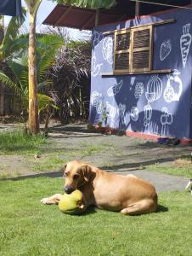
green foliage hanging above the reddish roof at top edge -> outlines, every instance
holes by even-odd
[[[56,0],[57,3],[66,3],[69,5],[76,5],[78,7],[99,9],[105,8],[110,9],[110,7],[116,4],[115,0]]]

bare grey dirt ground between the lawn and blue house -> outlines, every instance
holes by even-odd
[[[0,124],[0,131],[14,129],[14,127],[15,125]],[[55,150],[60,152],[59,158],[61,160],[63,158],[64,162],[66,159],[65,153],[67,152],[67,160],[83,160],[109,172],[123,174],[132,172],[138,177],[145,177],[152,181],[159,190],[167,190],[167,188],[171,190],[181,189],[184,188],[187,181],[183,177],[172,177],[169,180],[169,175],[157,173],[154,176],[154,173],[146,170],[141,171],[141,169],[143,166],[149,166],[150,164],[166,163],[180,157],[189,156],[192,152],[191,146],[160,145],[141,138],[104,135],[88,131],[87,125],[79,124],[53,125],[48,137],[55,144]],[[76,154],[73,154],[74,152]],[[31,159],[31,161],[35,160]],[[18,176],[37,173],[36,171],[31,172],[26,165],[25,157],[0,154],[0,172],[6,170],[15,173],[20,170]],[[48,172],[54,171],[59,170],[48,170]],[[163,183],[167,183],[166,188],[163,188]]]

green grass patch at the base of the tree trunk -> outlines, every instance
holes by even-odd
[[[42,135],[31,137],[22,129],[0,132],[0,154],[36,154],[47,143]]]

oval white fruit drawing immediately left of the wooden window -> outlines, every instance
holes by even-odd
[[[113,64],[113,39],[110,37],[104,38],[103,40],[103,57],[105,61]]]

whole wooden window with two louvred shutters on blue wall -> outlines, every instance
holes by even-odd
[[[152,69],[153,26],[115,32],[114,73],[140,73]]]

